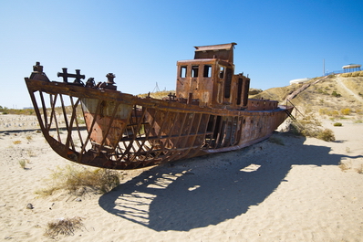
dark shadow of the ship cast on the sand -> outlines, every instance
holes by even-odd
[[[304,145],[305,140],[288,138],[285,146],[262,142],[241,151],[184,160],[172,168],[154,167],[102,195],[99,205],[156,231],[217,225],[262,203],[287,182],[292,165],[337,165],[347,157],[330,154],[328,147]],[[284,162],[279,161],[282,156]]]

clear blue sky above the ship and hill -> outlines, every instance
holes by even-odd
[[[31,106],[24,78],[68,68],[86,79],[116,75],[131,94],[175,89],[176,61],[194,46],[236,42],[235,72],[251,87],[363,64],[362,0],[0,0],[0,105]]]

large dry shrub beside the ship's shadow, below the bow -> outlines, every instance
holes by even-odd
[[[106,194],[119,185],[119,174],[116,171],[101,168],[90,170],[80,165],[57,167],[51,177],[54,185],[36,191],[37,195],[52,195],[57,190],[79,195],[79,191],[86,192],[86,188],[98,194]]]

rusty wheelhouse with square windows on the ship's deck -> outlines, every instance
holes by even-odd
[[[234,45],[195,47],[194,59],[178,61],[177,98],[201,107],[246,109],[250,79],[234,75]]]

